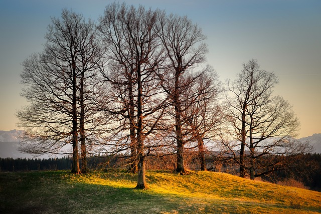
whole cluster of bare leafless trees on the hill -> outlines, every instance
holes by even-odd
[[[293,138],[291,106],[272,95],[275,75],[250,60],[224,88],[187,17],[113,3],[95,23],[65,9],[45,38],[44,51],[23,62],[24,152],[61,154],[71,144],[74,173],[88,170],[88,155],[122,155],[146,188],[147,156],[175,154],[186,174],[186,152],[197,151],[206,170],[206,153],[220,150],[254,179],[282,168],[272,157],[308,150]]]

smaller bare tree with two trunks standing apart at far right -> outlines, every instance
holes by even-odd
[[[266,166],[256,165],[255,160],[259,157],[307,151],[307,147],[297,147],[298,144],[293,140],[299,122],[292,107],[281,97],[272,95],[277,83],[274,73],[260,70],[257,60],[243,64],[242,72],[233,83],[227,81],[230,97],[227,97],[226,109],[236,141],[225,145],[240,165],[241,177],[245,177],[246,170],[254,179],[284,167],[280,161],[269,162]],[[245,154],[246,147],[249,155]],[[249,160],[249,163],[245,160]]]

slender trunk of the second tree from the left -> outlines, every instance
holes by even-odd
[[[87,151],[86,151],[86,135],[85,135],[85,105],[84,105],[84,74],[81,73],[80,79],[80,143],[81,143],[81,172],[86,173],[87,168]]]

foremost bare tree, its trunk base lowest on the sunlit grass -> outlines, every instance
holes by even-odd
[[[120,136],[123,141],[128,135],[122,135],[129,131],[128,149],[138,171],[136,188],[147,187],[146,143],[151,142],[148,136],[157,128],[167,102],[155,75],[163,60],[155,24],[156,13],[150,9],[114,3],[106,8],[99,26],[107,48],[106,58],[113,68],[104,76],[114,89],[119,90],[116,99],[109,101],[113,104],[106,111],[119,122],[119,126],[113,128],[116,131],[113,136]]]

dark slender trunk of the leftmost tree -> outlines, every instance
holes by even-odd
[[[73,82],[72,82],[72,151],[73,151],[73,173],[80,173],[79,158],[78,158],[78,120],[77,120],[77,96],[76,96],[76,65],[73,63]]]

